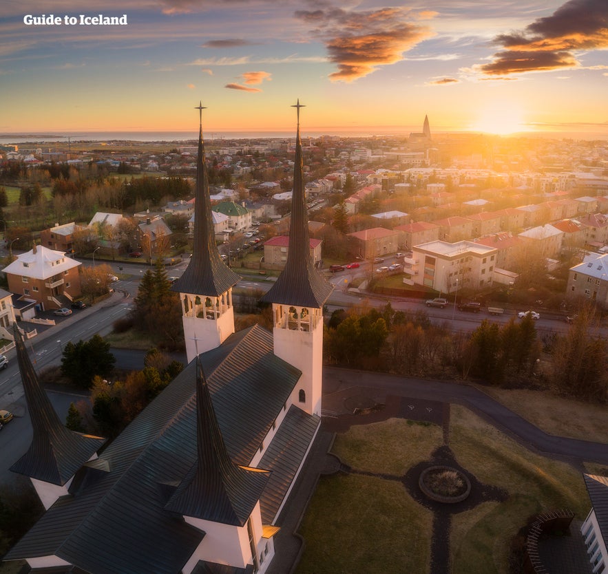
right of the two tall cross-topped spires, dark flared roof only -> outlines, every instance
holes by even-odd
[[[308,238],[308,217],[302,165],[302,141],[300,140],[300,100],[293,105],[297,109],[297,136],[293,167],[293,196],[291,198],[291,225],[289,251],[281,275],[262,297],[267,303],[322,307],[329,297],[332,286],[315,269]]]

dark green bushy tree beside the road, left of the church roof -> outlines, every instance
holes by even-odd
[[[70,341],[63,349],[61,372],[78,387],[90,388],[94,376],[107,377],[114,370],[116,358],[107,341],[94,334],[89,341]]]

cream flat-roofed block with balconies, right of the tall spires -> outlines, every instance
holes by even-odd
[[[417,245],[406,258],[410,281],[441,293],[479,290],[493,283],[495,248],[472,241],[433,241]],[[406,270],[408,273],[408,270]]]

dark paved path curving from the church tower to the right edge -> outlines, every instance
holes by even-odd
[[[346,398],[360,395],[370,396],[377,402],[383,402],[390,394],[457,403],[470,407],[485,421],[539,454],[566,460],[578,467],[584,461],[608,465],[607,444],[547,434],[470,385],[332,367],[324,368],[323,385],[324,409],[337,414],[348,412],[344,407]]]

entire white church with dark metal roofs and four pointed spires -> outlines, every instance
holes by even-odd
[[[264,573],[277,517],[321,422],[323,306],[332,286],[309,252],[300,108],[284,271],[263,300],[273,331],[235,332],[239,281],[216,248],[202,138],[194,249],[179,293],[188,365],[104,450],[54,414],[19,332],[34,436],[12,470],[46,512],[6,555],[34,571]]]

